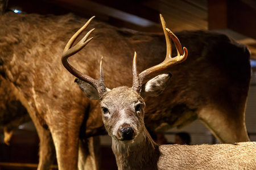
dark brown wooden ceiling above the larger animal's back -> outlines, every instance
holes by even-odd
[[[27,13],[67,14],[98,19],[117,27],[162,32],[159,14],[172,31],[216,30],[246,44],[256,59],[255,0],[9,0]]]

